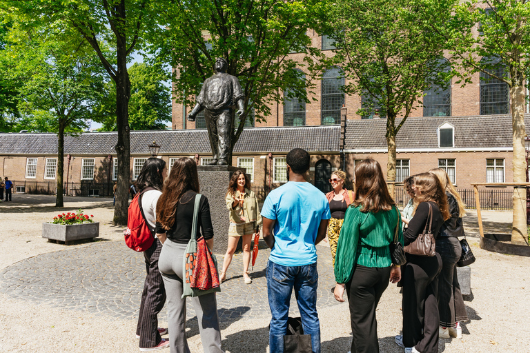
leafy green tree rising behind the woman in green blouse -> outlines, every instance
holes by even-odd
[[[426,10],[427,5],[422,0],[345,0],[329,10],[337,43],[329,63],[344,68],[349,79],[344,90],[362,96],[359,114],[377,107],[386,115],[388,181],[395,181],[397,132],[424,90],[446,84],[443,43],[429,21],[449,14]]]

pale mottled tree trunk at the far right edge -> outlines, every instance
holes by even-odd
[[[511,117],[513,129],[513,182],[524,183],[527,180],[526,150],[524,149],[524,86],[510,88]],[[527,232],[527,190],[513,189],[513,225],[511,242],[528,245]]]

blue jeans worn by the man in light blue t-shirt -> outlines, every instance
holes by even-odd
[[[320,353],[320,321],[317,314],[317,263],[305,266],[282,266],[267,263],[268,305],[271,307],[271,330],[268,336],[271,353],[284,352],[289,302],[295,288],[304,334],[311,334],[313,353]]]

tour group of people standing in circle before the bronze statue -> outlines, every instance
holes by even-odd
[[[284,352],[289,301],[294,290],[304,334],[311,335],[313,352],[320,352],[317,314],[317,251],[329,241],[337,285],[337,301],[349,301],[353,341],[351,352],[379,352],[377,303],[389,282],[403,288],[402,335],[395,337],[405,352],[438,352],[438,338],[461,336],[467,314],[455,264],[460,259],[464,204],[443,170],[431,170],[406,180],[411,202],[397,209],[377,161],[355,166],[355,191],[346,190],[346,174],[333,172],[333,191],[324,195],[306,179],[310,157],[300,148],[286,156],[288,182],[268,194],[261,212],[250,181],[235,172],[226,192],[230,221],[228,249],[219,281],[226,280],[239,238],[243,244],[243,279],[248,274],[252,236],[271,248],[266,267],[271,308],[270,352]],[[186,342],[186,299],[183,293],[183,256],[191,236],[204,236],[213,248],[210,205],[200,196],[197,234],[191,234],[199,179],[195,161],[180,158],[167,176],[166,163],[150,158],[137,179],[139,202],[155,241],[144,252],[146,281],[137,325],[140,351],[170,347],[171,353],[190,352]],[[391,261],[389,245],[396,234],[404,245],[425,228],[436,239],[435,256],[406,254],[401,267]],[[327,234],[327,239],[326,239]],[[204,352],[223,352],[215,292],[190,298],[199,323]],[[168,328],[158,327],[157,314],[168,307]],[[169,334],[169,339],[161,335]]]

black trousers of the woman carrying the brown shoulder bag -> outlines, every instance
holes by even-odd
[[[438,352],[438,274],[442,258],[406,254],[402,266],[403,344],[418,352]],[[423,333],[422,333],[423,330]]]

